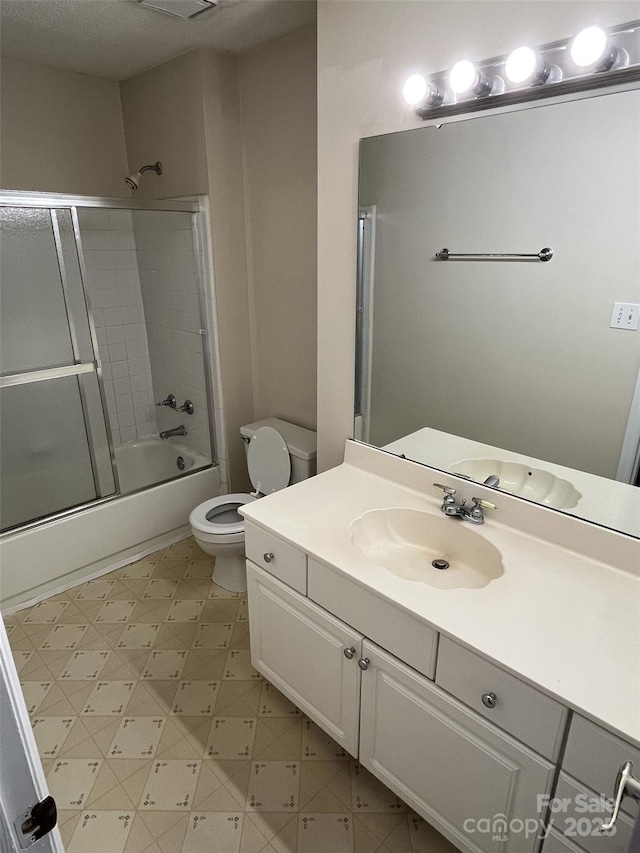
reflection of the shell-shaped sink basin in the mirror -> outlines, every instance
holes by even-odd
[[[501,491],[528,498],[554,509],[569,509],[577,506],[582,497],[568,480],[563,480],[540,468],[530,468],[521,462],[465,459],[462,462],[456,462],[450,470],[454,474],[469,477],[477,483],[484,483],[487,477],[494,474],[500,478],[497,488]]]

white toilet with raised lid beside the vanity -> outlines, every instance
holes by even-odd
[[[255,492],[220,495],[199,504],[189,516],[198,545],[215,560],[213,580],[225,589],[247,588],[244,519],[238,508],[315,474],[316,434],[278,418],[241,427],[249,477]]]

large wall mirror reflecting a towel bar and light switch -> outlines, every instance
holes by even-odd
[[[359,206],[355,437],[640,537],[640,91],[364,139]]]

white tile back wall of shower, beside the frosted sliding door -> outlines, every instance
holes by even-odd
[[[157,431],[131,212],[80,209],[87,288],[115,444]]]

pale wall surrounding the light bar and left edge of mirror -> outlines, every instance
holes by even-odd
[[[353,433],[358,139],[420,121],[401,99],[408,72],[544,43],[590,23],[640,17],[637,2],[318,4],[318,465],[342,460]]]

